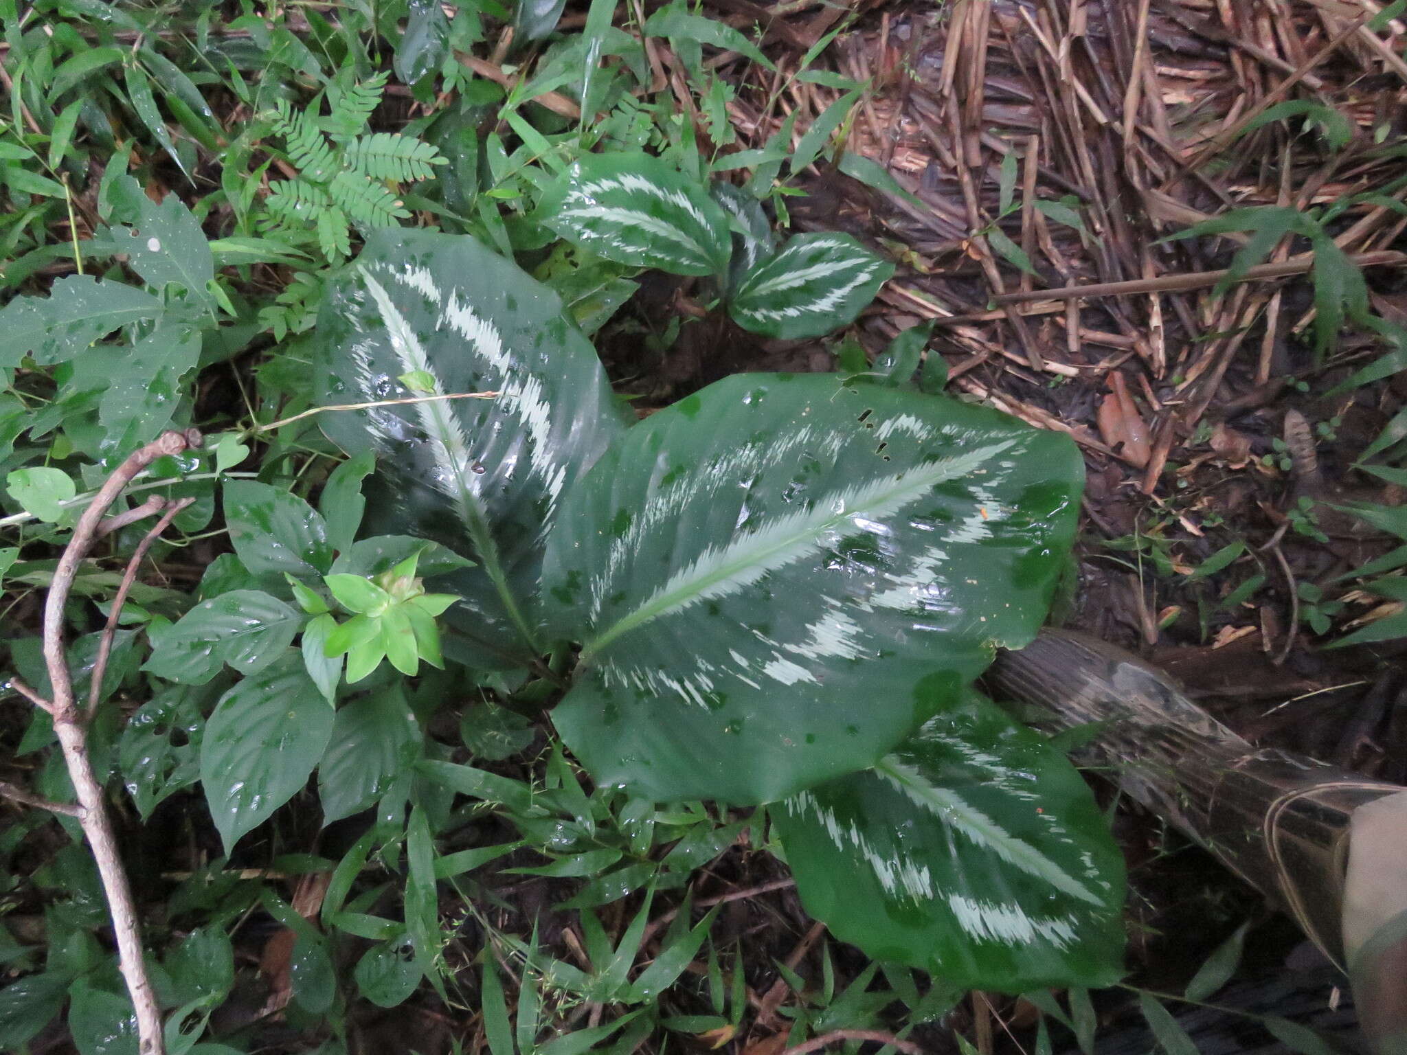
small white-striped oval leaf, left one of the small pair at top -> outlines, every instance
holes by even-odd
[[[647,153],[592,153],[543,196],[540,219],[597,256],[671,274],[720,274],[732,232],[698,184]]]

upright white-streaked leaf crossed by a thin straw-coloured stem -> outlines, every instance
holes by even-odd
[[[319,418],[349,453],[376,452],[363,532],[473,557],[478,567],[436,587],[466,599],[450,620],[484,663],[533,648],[543,539],[563,490],[623,429],[557,295],[473,238],[378,231],[331,290],[315,370],[324,404],[422,399]],[[485,391],[497,397],[440,398]]]

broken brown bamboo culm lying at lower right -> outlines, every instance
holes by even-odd
[[[1379,1051],[1407,1038],[1407,791],[1313,758],[1258,748],[1121,648],[1043,630],[1002,653],[998,699],[1051,729],[1092,726],[1075,755],[1278,902],[1354,976]]]

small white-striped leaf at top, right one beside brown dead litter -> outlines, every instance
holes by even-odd
[[[851,322],[892,274],[850,235],[795,235],[743,276],[729,314],[770,338],[819,338]]]

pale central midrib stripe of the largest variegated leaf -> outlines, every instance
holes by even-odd
[[[971,471],[988,459],[1002,453],[1013,443],[1014,440],[1003,440],[954,459],[944,459],[943,461],[929,466],[927,471],[915,467],[908,473],[895,477],[892,481],[893,485],[888,491],[867,495],[868,501],[862,505],[850,505],[846,502],[839,512],[832,513],[830,516],[816,520],[802,520],[795,532],[774,539],[765,549],[756,549],[750,544],[756,539],[757,533],[743,536],[723,550],[723,560],[718,561],[712,570],[698,575],[696,578],[680,581],[674,585],[674,588],[664,588],[656,592],[643,601],[633,612],[628,612],[616,620],[613,626],[588,641],[581,650],[581,661],[588,663],[595,654],[598,654],[620,634],[635,630],[651,619],[657,619],[666,612],[689,605],[712,587],[727,582],[733,578],[743,578],[750,568],[767,565],[768,558],[777,557],[788,550],[795,550],[801,543],[815,543],[826,532],[839,528],[844,520],[848,520],[853,516],[874,512],[877,509],[885,509],[889,513],[898,512],[909,502],[915,502],[922,498],[934,485]],[[825,505],[826,501],[826,498],[822,498],[817,505]],[[801,560],[808,556],[808,553],[809,550],[798,551],[784,563],[789,564],[792,560]],[[781,564],[775,567],[781,567]],[[775,567],[768,570],[775,570]]]

